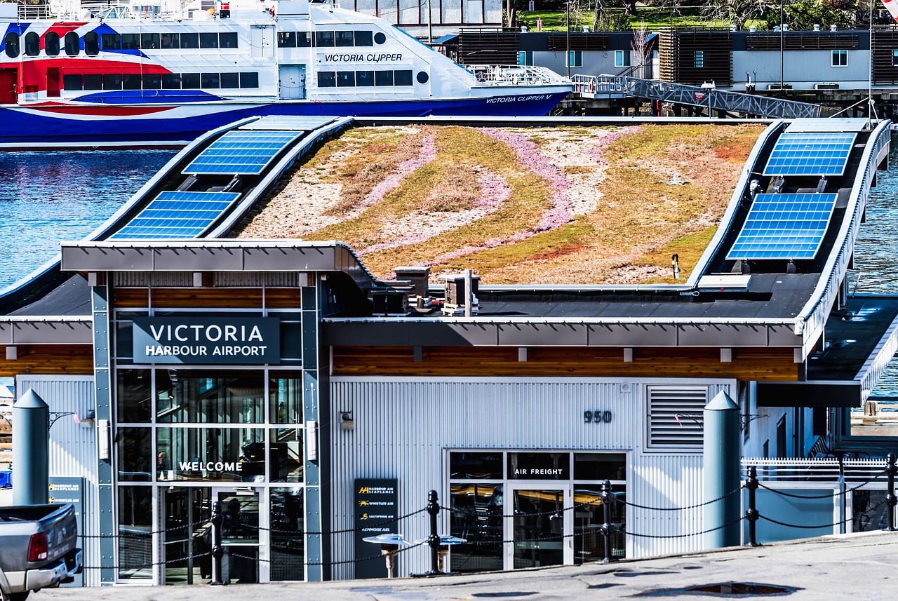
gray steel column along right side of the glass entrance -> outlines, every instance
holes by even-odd
[[[305,531],[321,533],[324,521],[321,515],[321,427],[318,379],[318,286],[316,274],[309,274],[309,286],[301,291],[303,315],[303,418],[305,421]],[[312,449],[316,449],[312,452]],[[305,561],[309,581],[324,579],[324,536],[312,534],[305,537]]]

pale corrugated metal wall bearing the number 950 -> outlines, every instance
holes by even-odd
[[[352,411],[355,430],[330,424],[332,442],[331,527],[352,528],[353,481],[397,478],[400,515],[427,504],[427,491],[446,503],[446,449],[627,450],[630,502],[651,507],[685,507],[701,502],[701,449],[678,454],[644,453],[648,383],[709,386],[709,398],[735,381],[612,379],[398,379],[334,378],[330,414]],[[586,424],[585,410],[611,411],[611,424]],[[700,532],[701,510],[628,511],[628,530],[637,534]],[[445,532],[445,521],[441,525]],[[427,536],[427,513],[397,527],[414,540]],[[627,554],[697,550],[701,536],[655,539],[628,536]],[[355,556],[352,534],[333,537],[332,557]],[[375,549],[372,549],[376,553]],[[427,553],[403,553],[397,575],[427,571]],[[334,567],[333,577],[352,578],[351,563]]]

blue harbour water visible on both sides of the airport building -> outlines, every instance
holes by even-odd
[[[104,222],[172,157],[171,151],[0,152],[0,289]],[[898,136],[871,190],[855,247],[856,292],[898,293]],[[0,384],[9,380],[0,379]],[[898,397],[898,361],[874,392]]]

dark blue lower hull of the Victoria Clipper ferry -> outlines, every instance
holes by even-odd
[[[542,89],[460,100],[260,103],[191,102],[171,105],[44,104],[0,107],[0,149],[176,147],[233,121],[255,116],[527,117],[546,115],[567,96]]]

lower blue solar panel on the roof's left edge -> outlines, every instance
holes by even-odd
[[[237,192],[162,192],[110,240],[198,238],[239,197]]]

